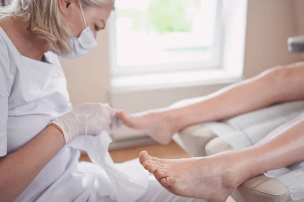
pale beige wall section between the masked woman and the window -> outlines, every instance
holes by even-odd
[[[107,102],[110,69],[106,38],[107,31],[102,31],[97,35],[98,46],[91,53],[75,60],[61,60],[74,106]]]

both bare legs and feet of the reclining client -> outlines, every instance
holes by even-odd
[[[132,116],[119,116],[130,128],[142,130],[162,144],[187,126],[221,120],[269,105],[304,99],[304,63],[271,68],[231,85],[200,103]],[[203,149],[203,148],[202,148]],[[304,114],[279,127],[256,145],[208,157],[167,160],[139,154],[140,164],[168,191],[221,202],[246,180],[264,171],[304,160]]]

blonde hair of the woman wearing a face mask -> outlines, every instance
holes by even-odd
[[[114,10],[115,0],[77,0],[83,7],[95,6]],[[58,0],[7,0],[0,7],[0,17],[22,17],[28,21],[29,31],[48,41],[61,53],[70,53],[70,31],[58,8]]]

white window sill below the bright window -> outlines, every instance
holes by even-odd
[[[223,69],[132,75],[111,79],[111,93],[235,83],[242,75]]]

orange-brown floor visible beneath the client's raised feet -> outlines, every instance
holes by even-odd
[[[150,155],[157,156],[159,158],[187,158],[190,157],[184,150],[182,150],[177,144],[171,143],[167,146],[154,144],[132,147],[122,150],[110,151],[110,154],[115,163],[122,163],[126,160],[137,158],[140,151],[146,150]],[[90,161],[87,155],[82,155],[80,160]],[[226,202],[235,202],[231,197],[229,197]]]

